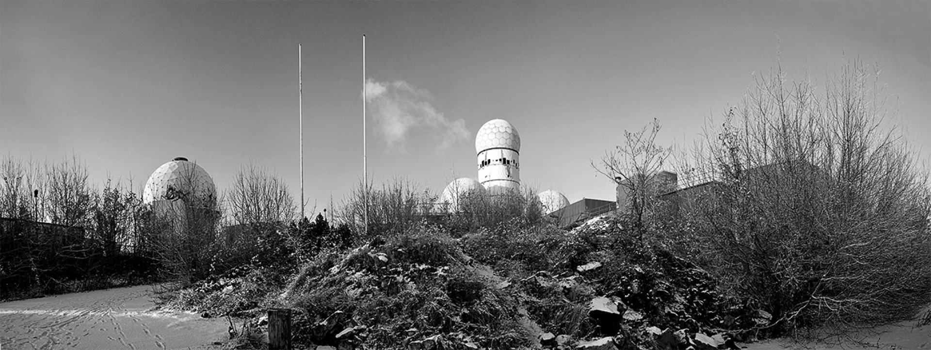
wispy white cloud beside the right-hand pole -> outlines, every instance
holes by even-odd
[[[439,149],[469,138],[466,121],[447,119],[430,104],[433,97],[425,89],[401,80],[377,82],[372,79],[365,82],[365,88],[369,115],[392,149],[405,152],[408,135],[413,132],[430,133],[439,142]]]

